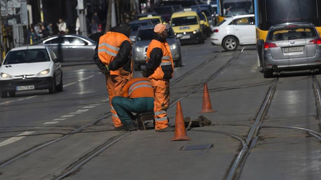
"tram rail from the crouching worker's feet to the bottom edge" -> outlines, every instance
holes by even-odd
[[[125,136],[129,135],[130,133],[131,133],[130,131],[127,132],[127,133],[123,133],[122,135],[118,135],[115,138],[107,141],[106,143],[104,143],[100,147],[98,147],[98,148],[94,149],[93,151],[91,151],[90,153],[88,153],[86,156],[82,157],[80,160],[74,162],[73,165],[70,168],[66,169],[63,173],[61,173],[60,175],[58,175],[57,177],[55,177],[52,180],[60,180],[60,179],[65,178],[66,176],[70,175],[75,170],[77,170],[82,165],[84,165],[86,162],[88,162],[89,160],[91,160],[92,158],[97,156],[100,152],[106,150],[108,147],[110,147],[113,144],[117,143],[119,140],[121,140]]]

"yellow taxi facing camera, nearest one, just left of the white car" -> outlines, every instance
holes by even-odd
[[[204,24],[204,20],[200,20],[197,12],[190,8],[181,12],[174,12],[170,19],[170,25],[181,43],[203,43],[204,31],[202,25]]]

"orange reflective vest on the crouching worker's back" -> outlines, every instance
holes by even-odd
[[[133,78],[129,80],[122,91],[123,97],[154,97],[154,89],[148,78]]]

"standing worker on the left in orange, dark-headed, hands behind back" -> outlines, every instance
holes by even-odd
[[[113,97],[120,96],[124,85],[133,78],[132,46],[129,40],[130,25],[126,22],[99,38],[94,61],[100,72],[105,74],[109,105],[115,127],[122,123],[111,104]]]

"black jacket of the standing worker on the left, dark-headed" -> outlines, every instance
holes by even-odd
[[[112,32],[118,32],[122,33],[125,36],[129,37],[130,33],[128,34],[127,31],[125,31],[122,28],[116,27],[112,30]],[[99,69],[104,69],[105,65],[100,61],[98,57],[98,45],[95,48],[95,54],[94,54],[94,61]],[[129,72],[129,69],[131,68],[131,52],[132,52],[132,45],[129,41],[125,40],[120,45],[120,49],[117,53],[116,58],[108,65],[109,70],[118,70],[119,68],[123,67],[124,70]]]

